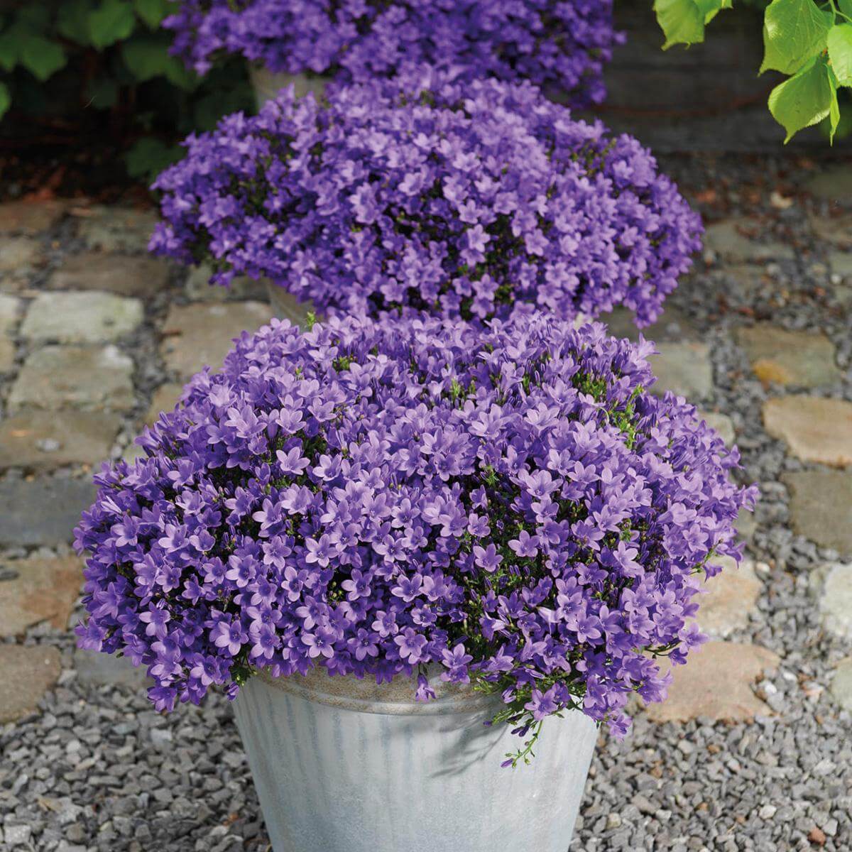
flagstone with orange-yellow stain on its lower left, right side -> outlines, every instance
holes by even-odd
[[[834,360],[834,346],[824,334],[758,323],[740,328],[736,340],[764,385],[816,388],[843,379]]]

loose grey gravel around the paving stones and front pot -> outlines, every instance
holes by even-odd
[[[845,180],[849,187],[852,161],[841,165],[837,186]],[[832,467],[798,458],[785,440],[768,434],[763,406],[770,398],[803,393],[852,401],[852,262],[843,243],[844,223],[852,220],[826,198],[831,191],[807,192],[815,176],[807,161],[671,158],[665,167],[707,222],[735,222],[739,228],[711,231],[698,270],[671,297],[670,311],[648,336],[660,341],[661,359],[666,345],[684,340],[706,347],[700,357],[709,360],[712,384],[709,390],[696,385],[704,399],[695,401],[704,411],[729,417],[743,456],[741,478],[759,482],[763,492],[755,528],[746,525],[748,555],[765,566],[756,575],[761,591],[745,623],[734,625],[724,639],[768,649],[780,661],[773,673],[749,684],[763,708],[753,721],[699,716],[660,723],[640,713],[625,742],[602,735],[570,849],[848,852],[852,712],[843,709],[836,685],[832,694],[832,679],[852,654],[852,613],[849,630],[842,618],[839,628],[837,619],[828,625],[817,569],[852,560],[852,548],[838,550],[827,539],[820,544],[819,527],[825,526],[820,512],[843,511],[830,505],[827,490],[826,505],[815,509],[815,532],[794,531],[789,477],[811,471],[826,483],[835,481],[831,476],[848,481],[852,460],[840,458]],[[84,249],[79,230],[78,219],[66,212],[37,236],[42,261],[26,282],[10,285],[4,279],[3,290],[22,300],[19,314],[49,286],[69,253]],[[135,395],[118,412],[111,452],[124,451],[155,389],[179,378],[170,372],[163,348],[169,339],[161,343],[160,331],[170,306],[198,295],[180,273],[170,273],[159,294],[145,300],[141,324],[118,341],[133,360]],[[256,294],[235,297],[245,295]],[[17,320],[9,332],[14,363],[0,384],[7,403],[34,348],[21,338]],[[758,380],[761,369],[774,370],[778,363],[770,357],[767,366],[752,357],[738,330],[762,322],[827,337],[828,360],[814,355],[819,381],[803,387],[795,378]],[[806,357],[803,351],[797,363]],[[846,428],[838,423],[838,429]],[[852,446],[852,431],[845,440]],[[0,488],[5,483],[24,493],[30,471],[8,467]],[[66,464],[39,476],[83,481],[88,475],[84,464]],[[0,607],[3,571],[14,573],[25,558],[67,553],[64,542],[0,544]],[[64,627],[43,621],[6,636],[0,651],[22,645],[56,648],[61,673],[36,711],[0,726],[0,849],[269,848],[227,701],[213,697],[201,708],[182,707],[161,717],[150,709],[137,673],[75,653]],[[3,690],[16,688],[0,682]],[[852,707],[852,686],[847,690]]]

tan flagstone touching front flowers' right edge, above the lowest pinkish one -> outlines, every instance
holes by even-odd
[[[763,583],[757,579],[751,559],[744,559],[739,567],[729,556],[713,562],[722,566],[722,573],[702,582],[702,594],[694,598],[700,607],[696,621],[708,636],[724,638],[748,625],[751,613],[757,612]]]

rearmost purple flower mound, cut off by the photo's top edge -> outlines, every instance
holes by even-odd
[[[219,54],[347,83],[425,64],[463,80],[530,80],[575,106],[603,100],[620,40],[612,0],[183,0],[164,26],[199,73]]]

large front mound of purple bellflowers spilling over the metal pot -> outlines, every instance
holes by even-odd
[[[428,699],[431,665],[523,727],[579,706],[624,732],[755,497],[648,393],[652,351],[544,314],[244,333],[96,477],[81,645],[145,665],[158,710],[317,665]]]

